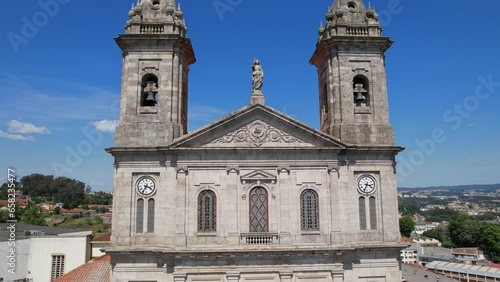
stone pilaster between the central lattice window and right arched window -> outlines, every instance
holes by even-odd
[[[291,223],[290,223],[290,166],[278,166],[278,187],[279,187],[279,204],[280,204],[280,219],[279,219],[279,240],[280,244],[291,243]]]

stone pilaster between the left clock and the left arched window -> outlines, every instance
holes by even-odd
[[[187,167],[177,167],[176,212],[175,212],[175,246],[186,246],[186,192]]]

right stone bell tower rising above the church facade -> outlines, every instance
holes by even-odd
[[[374,8],[335,0],[311,64],[318,68],[321,131],[352,145],[394,145],[389,123],[385,51]]]

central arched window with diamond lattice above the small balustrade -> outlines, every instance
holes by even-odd
[[[268,232],[268,199],[263,187],[250,191],[250,232]]]

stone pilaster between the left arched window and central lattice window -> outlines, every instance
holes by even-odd
[[[239,193],[238,193],[238,175],[240,173],[240,169],[238,166],[228,166],[226,168],[229,181],[225,187],[227,191],[226,197],[221,199],[226,201],[228,210],[225,215],[221,215],[223,217],[220,218],[219,222],[224,221],[224,225],[226,226],[227,231],[227,242],[229,245],[239,245],[240,242],[240,223],[238,217],[239,210]]]

